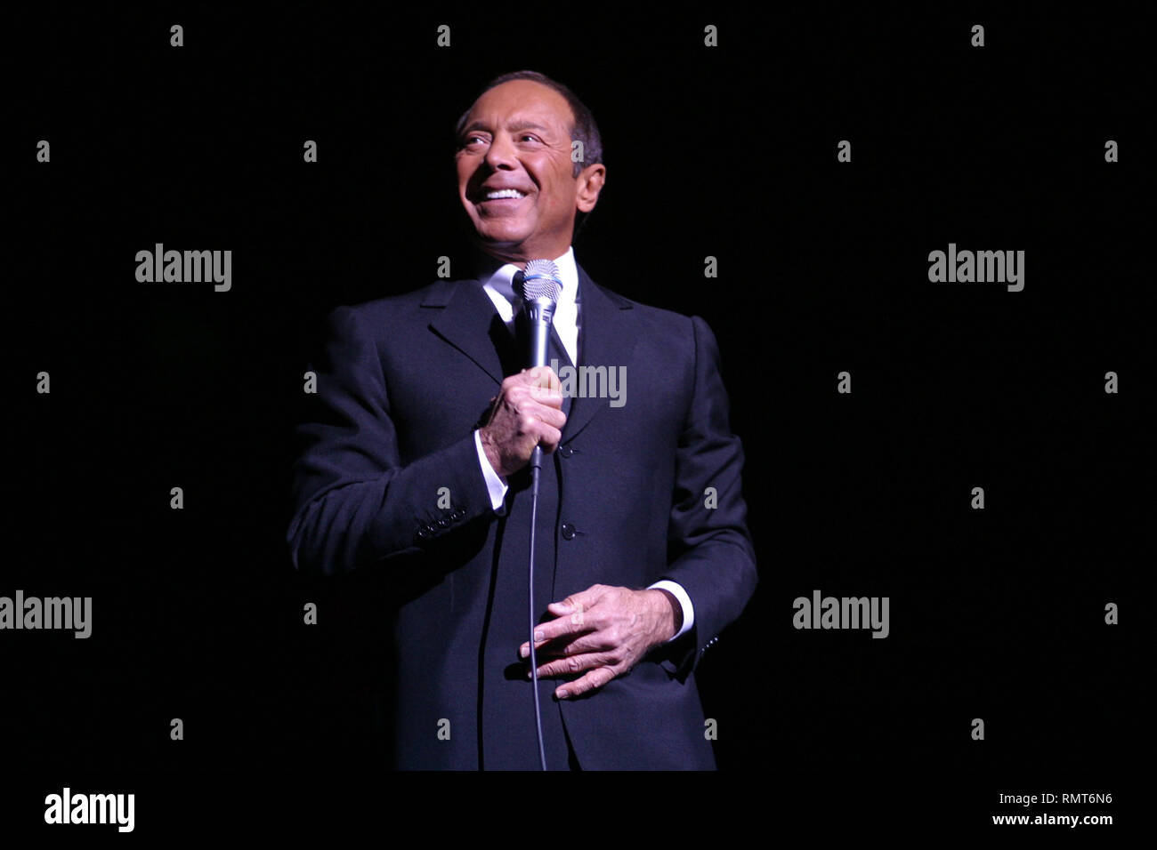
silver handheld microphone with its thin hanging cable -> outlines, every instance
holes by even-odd
[[[522,297],[529,325],[528,369],[546,365],[546,353],[551,340],[551,323],[559,302],[559,267],[553,260],[530,260],[525,272],[515,272],[514,290]],[[535,724],[538,729],[538,760],[546,770],[546,747],[543,745],[543,712],[538,700],[538,656],[535,651],[535,526],[538,524],[538,473],[543,468],[543,446],[536,445],[530,453],[530,557],[528,579],[530,585],[530,680],[535,692]]]

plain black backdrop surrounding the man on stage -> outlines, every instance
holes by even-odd
[[[373,9],[39,6],[8,28],[0,594],[91,596],[94,624],[0,635],[5,761],[37,777],[6,820],[43,822],[69,782],[135,791],[138,830],[159,831],[192,818],[172,789],[231,812],[292,805],[282,786],[391,783],[367,742],[368,579],[299,576],[286,552],[302,372],[332,306],[425,286],[443,254],[464,268],[454,121],[524,67],[603,132],[578,261],[720,341],[760,570],[699,677],[721,770],[783,816],[875,807],[889,828],[990,825],[1024,811],[997,793],[1025,790],[1113,792],[1053,811],[1123,812],[1152,598],[1138,21],[1099,5]],[[157,242],[230,249],[233,289],[138,283]],[[1024,250],[1024,290],[930,283],[950,242]],[[891,635],[794,629],[815,589],[890,597]]]

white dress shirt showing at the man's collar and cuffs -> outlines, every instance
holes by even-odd
[[[580,302],[576,301],[578,268],[575,266],[574,247],[568,247],[565,254],[554,260],[554,265],[559,267],[559,280],[562,282],[562,288],[559,290],[559,301],[554,306],[553,325],[562,341],[562,347],[570,356],[570,362],[578,365],[578,327],[582,319],[578,315]],[[516,311],[522,309],[521,300],[514,291],[514,275],[517,271],[519,271],[518,266],[513,263],[502,265],[500,260],[494,260],[481,269],[479,275],[482,281],[482,290],[494,302],[494,309],[499,311],[499,316],[510,328],[510,333],[514,333]],[[486,488],[491,494],[491,507],[494,510],[500,510],[506,501],[507,482],[491,466],[478,430],[474,431],[474,445],[478,449],[478,463],[486,478]],[[695,622],[695,608],[683,585],[664,578],[655,582],[648,590],[668,590],[679,600],[679,606],[683,608],[683,626],[675,634],[675,637],[670,638],[671,641],[691,629]]]

